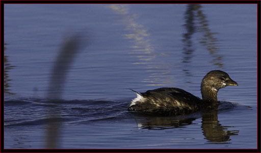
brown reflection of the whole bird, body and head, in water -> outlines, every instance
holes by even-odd
[[[195,116],[200,114],[195,114]],[[228,127],[221,125],[218,121],[218,110],[202,112],[201,129],[202,134],[209,143],[224,143],[230,141],[230,136],[238,135],[239,131],[227,130]],[[147,130],[166,130],[186,127],[193,123],[199,117],[180,118],[176,117],[147,117],[146,119],[136,120],[139,129]]]

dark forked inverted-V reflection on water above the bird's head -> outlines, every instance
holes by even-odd
[[[210,28],[208,28],[208,21],[206,20],[206,15],[203,14],[203,11],[200,10],[200,8],[200,4],[189,4],[187,6],[187,11],[185,13],[186,23],[184,24],[187,33],[183,35],[184,54],[186,56],[184,57],[183,62],[190,62],[190,59],[192,58],[192,53],[194,52],[194,50],[192,49],[191,37],[197,30],[202,33],[202,38],[200,39],[199,43],[206,47],[208,53],[213,58],[211,63],[222,68],[222,56],[218,55],[218,40],[214,37],[215,33],[212,33]],[[196,23],[199,24],[198,26],[195,25],[195,21],[197,21]]]

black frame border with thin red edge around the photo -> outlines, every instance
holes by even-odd
[[[0,0],[1,1],[1,0]],[[260,152],[260,1],[1,1],[4,4],[257,4],[257,149],[4,149],[4,77],[1,77],[0,152]],[[1,24],[1,76],[4,76],[4,26]],[[2,79],[3,78],[3,79]]]

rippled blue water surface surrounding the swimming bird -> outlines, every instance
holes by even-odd
[[[4,9],[5,148],[257,147],[256,5]],[[218,111],[127,111],[129,89],[177,87],[201,97],[214,69],[239,84],[219,90]]]

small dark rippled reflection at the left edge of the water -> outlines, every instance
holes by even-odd
[[[4,46],[4,51],[6,51],[6,43],[5,43],[5,46]],[[8,61],[8,56],[4,56],[4,67],[5,67],[5,70],[4,70],[4,92],[5,94],[14,94],[13,92],[11,92],[11,90],[9,89],[10,87],[10,81],[12,81],[11,79],[9,79],[9,74],[8,72],[13,69],[15,66],[12,66],[10,64],[10,62]]]

